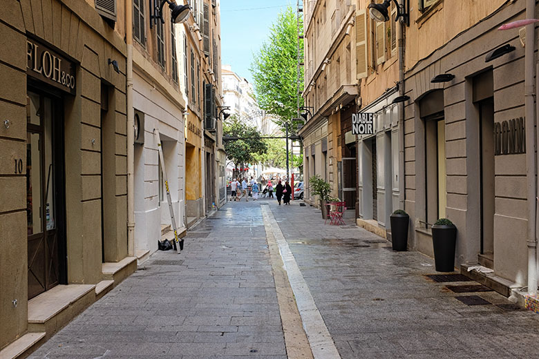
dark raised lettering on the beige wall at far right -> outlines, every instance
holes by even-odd
[[[494,124],[494,155],[526,153],[524,119],[510,119]]]

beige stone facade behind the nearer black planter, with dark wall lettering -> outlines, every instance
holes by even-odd
[[[457,11],[470,16],[455,17]],[[523,142],[528,119],[519,29],[497,28],[524,19],[524,12],[525,1],[434,1],[412,10],[406,29],[410,246],[433,255],[431,226],[447,217],[458,231],[455,265],[493,269],[507,294],[511,285],[527,284],[526,161],[535,155]],[[439,36],[432,37],[435,31]],[[489,60],[489,52],[506,44],[512,52]],[[441,74],[451,77],[433,83]]]

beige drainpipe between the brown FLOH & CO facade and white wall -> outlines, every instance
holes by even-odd
[[[127,103],[127,255],[135,255],[135,154],[133,142],[133,9],[125,2],[125,38],[127,45],[126,103]],[[144,129],[142,129],[144,130]]]

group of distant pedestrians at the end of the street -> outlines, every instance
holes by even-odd
[[[262,179],[262,183],[265,183],[265,179]],[[231,198],[234,198],[234,202],[240,202],[243,197],[245,197],[245,202],[249,202],[249,186],[251,187],[253,200],[258,200],[258,193],[261,191],[261,186],[258,184],[258,182],[256,182],[256,179],[251,177],[249,182],[247,182],[247,178],[245,177],[241,179],[241,182],[236,178],[232,179],[232,182],[230,182],[230,188],[232,190]],[[281,200],[284,204],[290,204],[292,187],[288,181],[285,181],[285,184],[283,184],[281,179],[278,179],[278,183],[274,188],[272,180],[269,179],[263,193],[267,194],[269,198],[273,198],[274,191],[279,206],[281,206]]]

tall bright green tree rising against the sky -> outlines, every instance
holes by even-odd
[[[303,33],[303,21],[300,23]],[[285,128],[285,123],[297,116],[297,17],[291,6],[278,14],[270,28],[269,38],[254,55],[251,72],[258,106],[277,117],[276,123]],[[303,53],[303,40],[300,41]],[[303,67],[300,75],[303,89]],[[301,99],[300,106],[303,106]],[[295,132],[295,126],[292,133]]]

